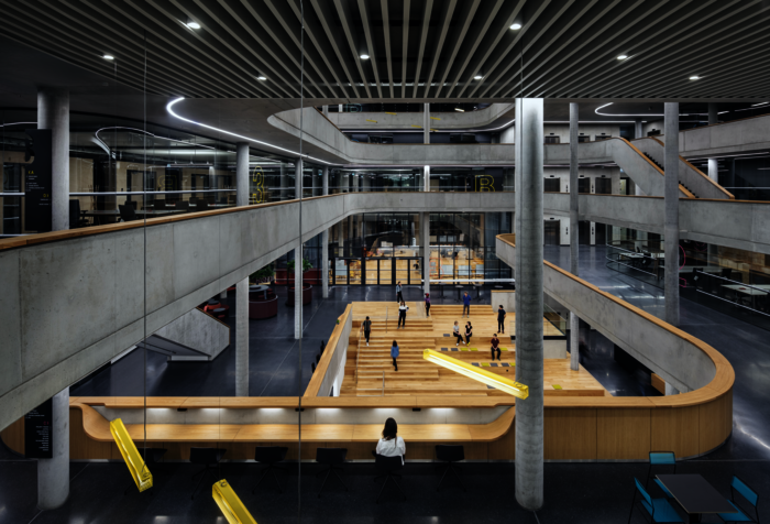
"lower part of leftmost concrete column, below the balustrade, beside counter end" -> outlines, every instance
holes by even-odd
[[[55,510],[69,496],[69,387],[54,395],[52,434],[54,457],[37,460],[37,507],[41,510]]]

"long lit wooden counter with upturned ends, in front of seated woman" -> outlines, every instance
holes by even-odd
[[[112,441],[110,423],[82,403],[70,403],[82,412],[82,428],[92,440]],[[512,428],[516,407],[509,407],[487,424],[399,424],[398,435],[413,443],[490,443],[503,438]],[[143,424],[127,424],[131,438],[145,439]],[[302,424],[302,440],[328,443],[376,443],[381,424]],[[296,424],[147,424],[151,443],[296,443]]]

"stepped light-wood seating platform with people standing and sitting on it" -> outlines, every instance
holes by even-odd
[[[425,349],[446,352],[452,358],[472,363],[502,375],[516,375],[516,343],[510,334],[516,326],[516,314],[508,313],[506,332],[498,335],[501,358],[492,360],[492,336],[497,332],[497,315],[488,305],[472,305],[469,317],[462,316],[461,305],[435,305],[425,316],[421,303],[409,303],[406,327],[398,327],[396,302],[353,303],[353,334],[348,348],[342,396],[497,396],[505,393],[481,382],[438,367],[422,358]],[[421,315],[420,315],[421,313]],[[361,323],[370,317],[370,342],[360,334]],[[465,323],[473,326],[469,343],[458,343],[452,335],[454,321],[461,334]],[[546,334],[560,334],[543,319]],[[398,371],[393,367],[391,347],[399,347]],[[609,393],[584,368],[570,370],[569,359],[544,361],[546,395],[605,396]]]

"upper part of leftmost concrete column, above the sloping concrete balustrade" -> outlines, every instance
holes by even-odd
[[[37,129],[51,130],[51,230],[69,229],[69,91],[37,91]]]

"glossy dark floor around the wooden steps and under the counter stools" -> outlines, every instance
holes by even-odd
[[[569,250],[565,248],[549,247],[546,255],[560,266],[569,266]],[[580,271],[581,277],[602,290],[662,317],[662,291],[607,270],[602,248],[581,247]],[[420,298],[419,288],[408,288],[405,294],[407,299]],[[339,287],[328,301],[321,301],[320,293],[315,295],[314,304],[305,308],[307,338],[302,350],[302,387],[309,380],[310,359],[318,351],[320,340],[331,332],[333,319],[343,310],[344,304],[351,301],[393,299],[393,290],[378,287]],[[447,302],[451,302],[449,294]],[[441,301],[435,297],[433,303]],[[725,354],[735,368],[736,383],[730,439],[706,457],[680,463],[676,471],[701,473],[723,494],[729,493],[730,477],[738,474],[759,492],[759,507],[762,511],[770,503],[770,387],[765,375],[770,370],[769,332],[686,299],[681,302],[681,324],[682,329]],[[292,309],[285,306],[273,321],[250,324],[253,395],[297,394],[295,370],[298,348],[290,327]],[[613,358],[612,343],[606,338],[591,331],[588,339],[586,348],[581,351],[581,362],[597,380],[615,394],[641,394],[640,391],[646,391],[648,384],[639,373],[623,368]],[[72,394],[142,394],[141,390],[133,389],[134,383],[141,384],[141,356],[136,362],[129,360],[131,358],[134,357],[102,371]],[[168,365],[163,359],[151,359],[148,394],[234,393],[234,362],[229,349],[202,367],[195,363],[177,370],[176,365]],[[190,382],[198,393],[188,391]],[[0,461],[0,523],[226,522],[211,500],[210,488],[202,490],[195,501],[189,500],[195,488],[189,478],[195,471],[190,465],[162,465],[153,471],[156,485],[151,492],[154,494],[139,494],[131,490],[129,495],[123,496],[129,481],[123,465],[73,463],[69,501],[59,510],[40,513],[35,509],[35,463],[14,460],[7,452],[0,452],[0,457],[3,458]],[[314,474],[318,471],[315,465],[301,465],[301,477],[297,474],[298,467],[290,465],[286,473],[279,473],[286,487],[283,494],[273,489],[268,479],[257,494],[251,494],[258,472],[255,465],[224,463],[221,476],[232,483],[260,523],[432,524],[624,523],[631,507],[632,479],[644,479],[647,474],[647,466],[642,463],[547,463],[546,504],[536,515],[521,510],[515,501],[515,466],[510,463],[462,465],[468,492],[462,492],[452,480],[439,493],[435,490],[438,477],[432,465],[408,463],[403,481],[408,500],[402,501],[395,488],[388,487],[378,505],[374,503],[380,484],[372,480],[373,465],[348,465],[343,478],[351,491],[344,492],[339,482],[331,478],[320,499],[316,493],[320,480]],[[653,496],[661,496],[654,489],[650,491]],[[768,517],[763,511],[760,516]],[[717,518],[706,521],[718,522]],[[645,521],[635,512],[632,522]]]

